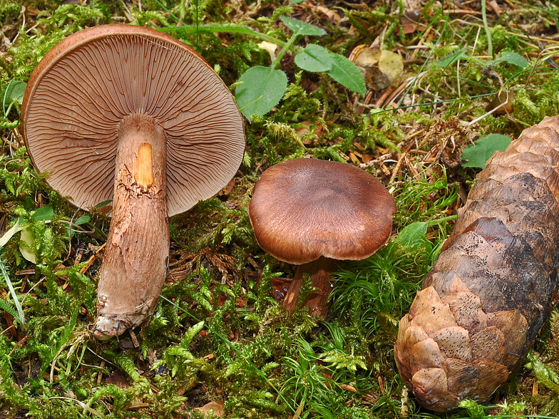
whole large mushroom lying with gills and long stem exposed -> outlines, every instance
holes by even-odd
[[[105,340],[138,326],[165,281],[168,217],[215,195],[242,161],[242,117],[230,91],[171,36],[97,26],[41,60],[21,127],[51,187],[82,209],[113,200],[94,334]]]

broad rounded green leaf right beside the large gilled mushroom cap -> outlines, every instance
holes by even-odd
[[[235,100],[242,115],[252,120],[252,115],[265,115],[282,99],[287,88],[287,76],[281,70],[255,66],[239,78],[242,82],[235,89]]]

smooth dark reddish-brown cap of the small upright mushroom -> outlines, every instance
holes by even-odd
[[[260,247],[290,264],[365,259],[388,241],[394,212],[391,195],[369,173],[313,159],[270,167],[248,207]]]

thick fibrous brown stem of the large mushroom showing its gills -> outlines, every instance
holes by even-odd
[[[98,284],[94,334],[106,340],[152,314],[169,260],[165,132],[154,118],[119,127],[113,218]]]

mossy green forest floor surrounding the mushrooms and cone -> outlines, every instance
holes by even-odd
[[[110,219],[36,175],[19,127],[37,63],[101,24],[195,48],[236,95],[247,141],[232,182],[170,219],[149,324],[106,342],[92,324]],[[393,358],[397,322],[488,155],[559,113],[558,27],[556,0],[0,1],[0,418],[559,415],[557,314],[488,408],[424,410]],[[336,71],[352,63],[361,73]],[[396,201],[389,244],[339,263],[326,319],[284,309],[294,266],[260,249],[247,214],[262,172],[294,157],[361,167]],[[419,248],[397,239],[412,223],[426,229]]]

